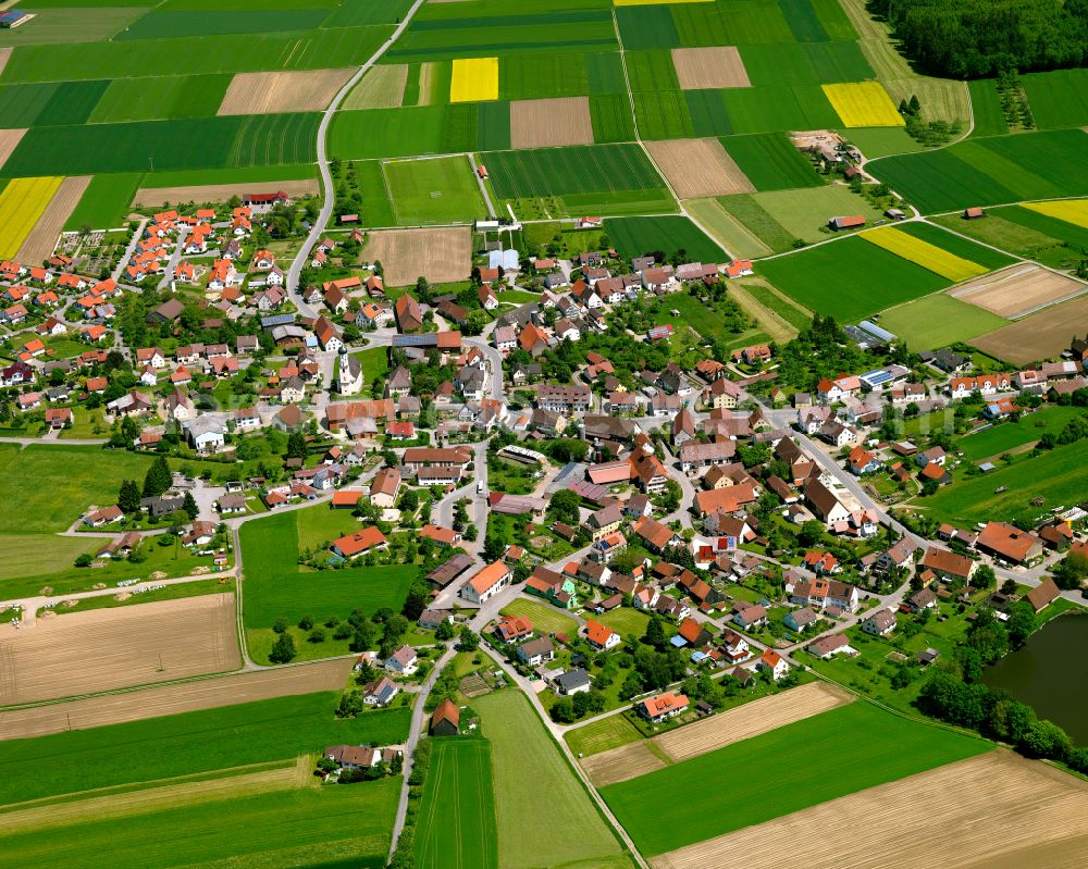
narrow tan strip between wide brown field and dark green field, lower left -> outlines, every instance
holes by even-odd
[[[64,617],[72,618],[75,613]],[[0,712],[0,736],[8,740],[44,736],[70,729],[140,721],[194,709],[213,709],[318,691],[339,691],[351,672],[351,658],[337,658]]]

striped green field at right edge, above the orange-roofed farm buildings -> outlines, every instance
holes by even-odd
[[[1031,520],[1040,513],[1084,500],[1088,486],[1088,440],[999,467],[982,476],[960,480],[922,504],[926,516],[968,525],[1001,517],[1007,522]],[[1003,492],[998,489],[1004,488]],[[1042,506],[1029,504],[1036,497]]]

